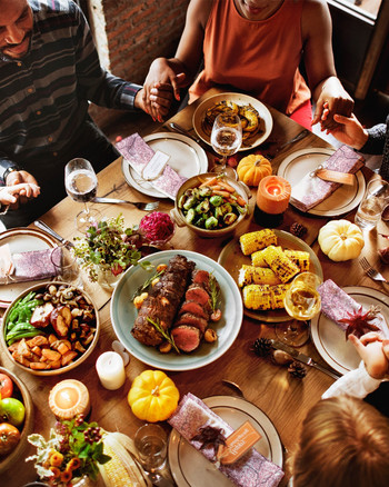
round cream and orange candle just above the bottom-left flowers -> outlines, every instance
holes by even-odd
[[[87,416],[90,410],[88,389],[79,380],[62,380],[51,389],[49,406],[58,419],[71,419],[77,415]]]

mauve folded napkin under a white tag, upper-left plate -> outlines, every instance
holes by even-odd
[[[143,169],[156,153],[139,133],[132,133],[132,136],[120,140],[117,143],[117,149],[140,177],[142,177]],[[148,182],[158,191],[174,199],[180,186],[186,180],[187,178],[178,175],[169,165],[166,165],[163,172]]]

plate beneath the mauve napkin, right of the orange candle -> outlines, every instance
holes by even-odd
[[[301,178],[308,172],[315,171],[318,166],[322,165],[329,156],[332,156],[333,149],[309,148],[298,150],[288,156],[278,168],[278,176],[287,179],[293,187],[301,181]],[[353,210],[361,201],[365,193],[365,178],[361,171],[353,176],[353,185],[342,185],[329,198],[321,203],[308,210],[308,213],[320,217],[337,217]],[[290,202],[292,205],[292,201]]]

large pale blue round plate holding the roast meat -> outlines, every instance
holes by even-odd
[[[202,340],[200,347],[191,354],[161,354],[154,347],[140,344],[131,335],[133,322],[138,316],[138,310],[132,304],[132,297],[137,289],[154,274],[143,270],[140,266],[128,269],[118,282],[111,300],[111,321],[114,332],[136,358],[143,364],[162,370],[192,370],[211,364],[221,357],[233,344],[237,338],[243,318],[243,307],[238,286],[231,276],[218,262],[201,254],[189,250],[163,250],[144,257],[142,260],[150,261],[154,267],[159,264],[168,264],[169,260],[181,255],[196,264],[197,269],[212,272],[220,286],[220,309],[222,317],[212,328],[218,334],[217,341],[208,344]]]

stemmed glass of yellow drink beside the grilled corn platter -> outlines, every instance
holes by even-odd
[[[295,277],[285,294],[283,305],[291,321],[276,326],[277,337],[292,346],[301,347],[309,338],[309,322],[321,308],[318,287],[321,279],[313,272],[301,272]]]

